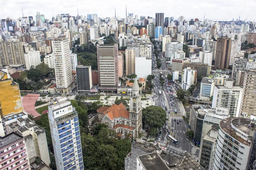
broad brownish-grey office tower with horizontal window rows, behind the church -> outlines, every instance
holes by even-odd
[[[97,44],[99,90],[115,92],[118,86],[118,44]]]

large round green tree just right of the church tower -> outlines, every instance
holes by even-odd
[[[158,106],[148,106],[143,109],[142,113],[143,125],[148,125],[150,128],[161,127],[166,122],[166,112]]]

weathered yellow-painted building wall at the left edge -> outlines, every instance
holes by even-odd
[[[19,85],[12,81],[6,68],[0,67],[0,115],[23,111]]]

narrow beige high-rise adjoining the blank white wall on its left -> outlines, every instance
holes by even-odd
[[[135,56],[134,49],[125,50],[125,75],[135,74]]]

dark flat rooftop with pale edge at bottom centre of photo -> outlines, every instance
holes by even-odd
[[[137,157],[145,170],[169,170],[163,159],[156,153],[148,153]]]

